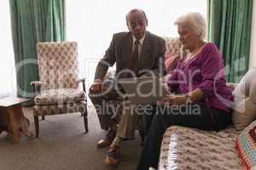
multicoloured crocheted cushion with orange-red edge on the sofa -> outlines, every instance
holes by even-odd
[[[246,169],[256,166],[256,121],[252,122],[237,137],[236,150]]]

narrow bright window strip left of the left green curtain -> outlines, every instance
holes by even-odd
[[[1,51],[1,66],[0,66],[0,93],[15,94],[15,56],[13,42],[11,36],[9,0],[2,0],[0,5],[0,51]]]

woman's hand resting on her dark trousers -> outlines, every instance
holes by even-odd
[[[186,104],[186,97],[184,95],[169,95],[167,94],[160,100],[164,105],[184,105]]]

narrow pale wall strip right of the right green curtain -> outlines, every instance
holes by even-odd
[[[256,66],[256,1],[253,0],[253,23],[251,32],[251,49],[249,67]]]

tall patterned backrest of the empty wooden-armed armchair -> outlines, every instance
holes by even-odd
[[[78,88],[78,43],[38,42],[37,45],[41,89]]]

